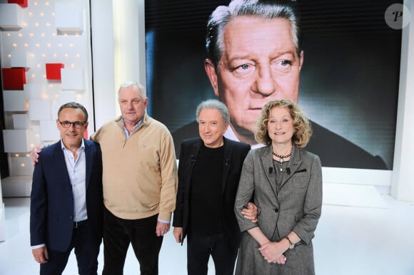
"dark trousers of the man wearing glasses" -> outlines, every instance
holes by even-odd
[[[62,274],[72,249],[75,249],[76,260],[78,261],[78,271],[80,275],[98,274],[98,255],[102,239],[92,236],[93,232],[88,222],[83,222],[78,228],[74,229],[69,249],[61,252],[48,248],[49,261],[40,264],[41,275]]]

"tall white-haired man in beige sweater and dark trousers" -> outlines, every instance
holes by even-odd
[[[158,274],[163,234],[176,205],[177,166],[173,138],[165,125],[146,114],[141,85],[118,90],[121,116],[91,139],[102,148],[104,167],[104,271],[123,274],[129,244],[141,274]]]

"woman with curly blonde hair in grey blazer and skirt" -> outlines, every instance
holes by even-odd
[[[290,100],[267,103],[243,164],[235,212],[242,233],[236,275],[315,274],[312,239],[322,207],[322,170],[317,155],[302,148],[312,131]],[[243,216],[253,196],[258,222]]]

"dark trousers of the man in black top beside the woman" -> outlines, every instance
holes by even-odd
[[[208,259],[213,257],[216,275],[233,275],[238,249],[233,251],[223,233],[187,236],[188,275],[207,275]]]

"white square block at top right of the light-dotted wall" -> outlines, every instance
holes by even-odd
[[[55,26],[58,34],[79,34],[84,31],[83,10],[76,3],[56,3]]]

